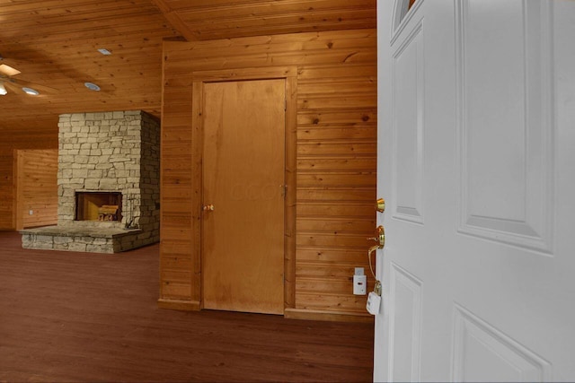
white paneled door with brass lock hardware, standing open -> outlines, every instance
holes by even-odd
[[[409,3],[378,1],[374,379],[575,380],[575,1]]]

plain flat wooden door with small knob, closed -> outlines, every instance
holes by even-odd
[[[205,309],[284,312],[285,92],[285,80],[203,85]]]

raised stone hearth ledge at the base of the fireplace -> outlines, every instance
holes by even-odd
[[[139,229],[44,226],[20,231],[22,248],[119,253],[152,243],[149,232]]]

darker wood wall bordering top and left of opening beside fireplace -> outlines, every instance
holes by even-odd
[[[0,230],[15,230],[15,149],[57,149],[57,118],[53,126],[0,126]]]

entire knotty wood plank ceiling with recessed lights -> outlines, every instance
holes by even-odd
[[[376,0],[0,0],[0,64],[21,72],[0,79],[0,129],[54,126],[73,112],[159,117],[163,39],[360,28],[376,28]]]

